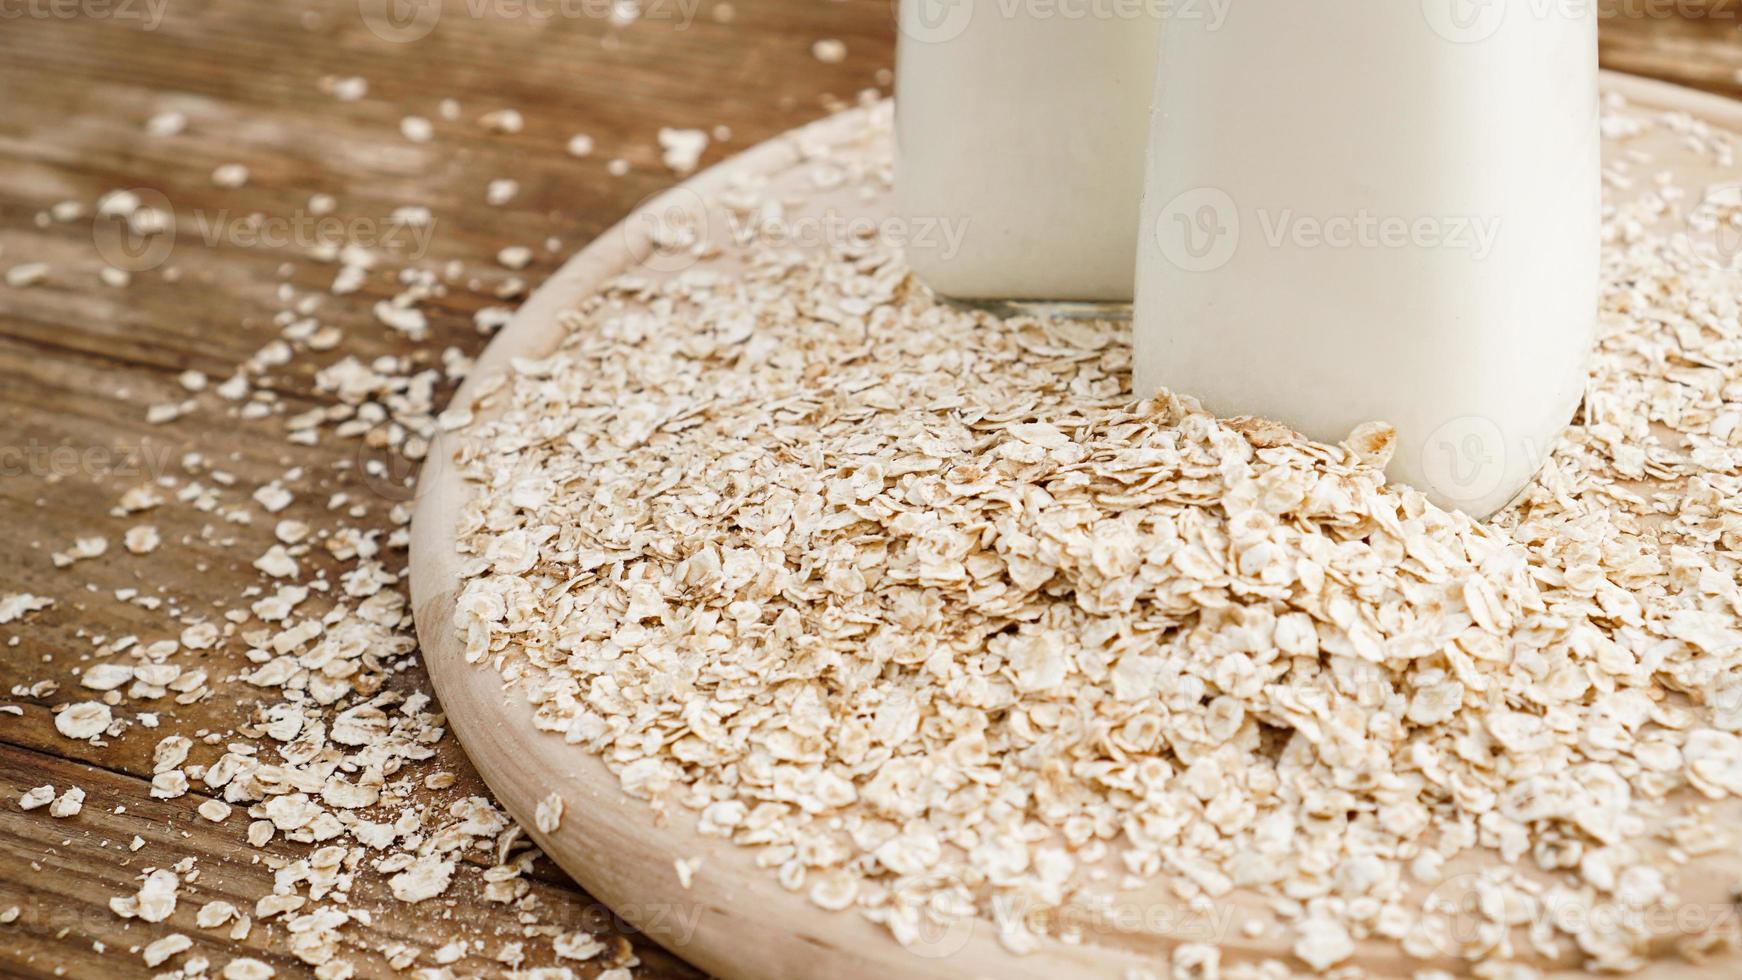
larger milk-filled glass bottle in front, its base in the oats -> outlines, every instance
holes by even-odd
[[[1597,308],[1594,3],[1282,0],[1165,17],[1136,385],[1484,517],[1536,473]]]

